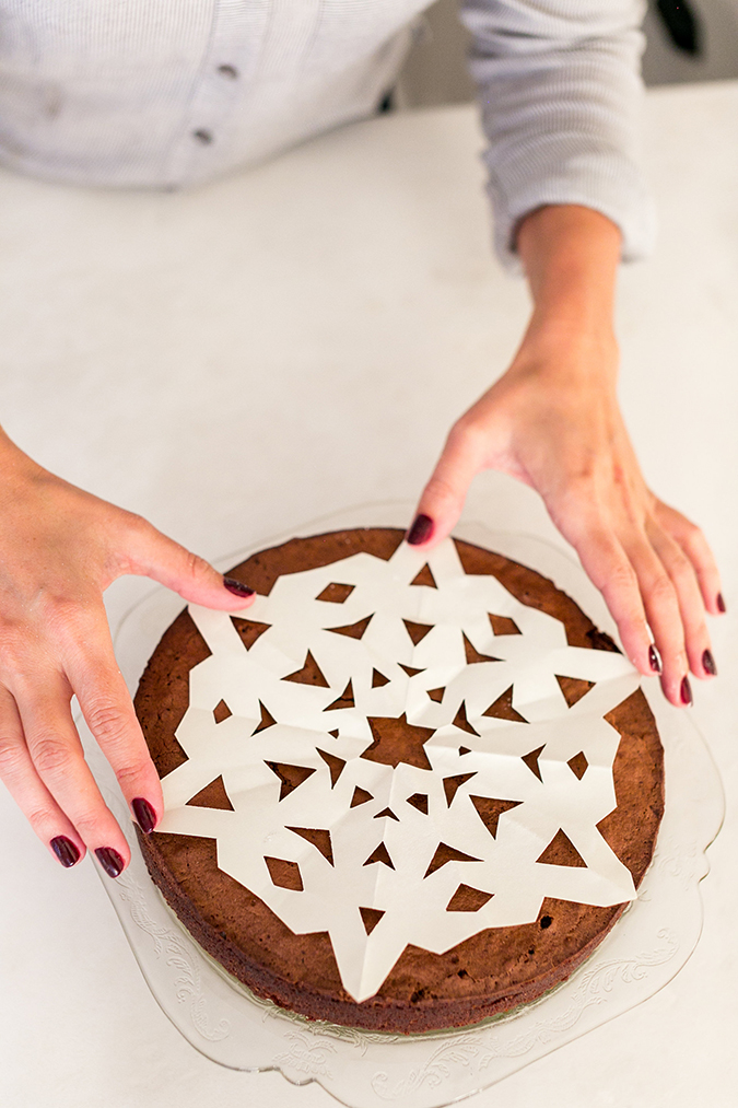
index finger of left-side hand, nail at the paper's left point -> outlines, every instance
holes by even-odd
[[[72,642],[64,644],[63,664],[88,727],[141,830],[150,834],[164,811],[162,786],[115,661],[104,611],[96,618],[88,614],[78,625]]]

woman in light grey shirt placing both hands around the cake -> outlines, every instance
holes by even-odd
[[[83,184],[196,184],[375,110],[422,0],[19,2],[0,43],[6,164]],[[621,257],[650,213],[634,134],[638,6],[469,0],[498,250],[533,312],[504,376],[453,425],[408,541],[453,527],[480,470],[535,488],[602,588],[624,647],[667,698],[715,676],[705,611],[725,609],[701,533],[647,489],[619,414]],[[78,696],[145,832],[162,793],[115,665],[103,589],[144,574],[218,608],[248,591],[145,521],[44,472],[0,435],[0,778],[62,865],[125,838],[84,763]]]

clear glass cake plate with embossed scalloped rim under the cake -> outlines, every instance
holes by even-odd
[[[412,509],[394,503],[346,510],[263,540],[224,557],[217,567],[228,570],[295,535],[404,526]],[[551,577],[597,626],[615,633],[601,594],[557,547],[470,522],[460,524],[454,534]],[[160,587],[122,619],[115,650],[132,694],[182,606],[181,597]],[[638,899],[595,953],[535,1003],[468,1028],[411,1036],[310,1023],[255,997],[213,962],[148,876],[115,778],[78,717],[90,765],[133,854],[117,881],[102,876],[103,886],[160,1006],[197,1050],[224,1066],[277,1069],[296,1085],[318,1081],[349,1108],[392,1104],[442,1108],[653,996],[681,968],[699,938],[699,882],[708,872],[705,851],[719,830],[724,798],[717,770],[689,716],[667,704],[655,681],[646,684],[645,694],[665,749],[666,809]]]

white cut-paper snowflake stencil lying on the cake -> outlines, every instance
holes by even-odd
[[[215,839],[293,932],[328,932],[356,1001],[409,943],[531,923],[544,896],[635,897],[596,824],[616,804],[603,717],[637,673],[467,575],[451,540],[286,574],[246,615],[189,612],[212,654],[160,830]]]

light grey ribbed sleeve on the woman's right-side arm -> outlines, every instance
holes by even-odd
[[[498,255],[544,204],[582,204],[646,256],[655,214],[638,164],[643,0],[464,0],[489,147]]]

